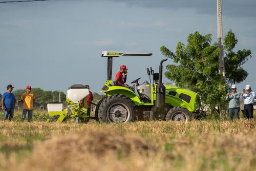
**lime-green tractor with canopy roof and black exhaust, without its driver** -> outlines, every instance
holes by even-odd
[[[112,81],[112,63],[114,57],[151,56],[152,53],[135,53],[121,51],[103,51],[101,56],[108,58],[108,78],[102,91],[104,97],[96,106],[95,116],[100,122],[131,122],[135,120],[173,120],[189,121],[206,115],[199,110],[200,98],[193,91],[166,86],[162,83],[162,64],[159,73],[147,68],[147,74],[153,76],[153,83],[139,83],[137,78],[131,83],[135,87],[117,86]],[[150,81],[151,82],[151,81]],[[137,94],[136,94],[137,92]]]

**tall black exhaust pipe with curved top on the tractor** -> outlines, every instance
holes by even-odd
[[[162,75],[163,75],[163,62],[167,59],[163,59],[160,62],[159,65],[159,82],[157,84],[157,90],[156,90],[156,107],[162,108],[165,103],[165,87],[162,83]]]

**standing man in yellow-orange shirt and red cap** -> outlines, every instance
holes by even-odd
[[[28,113],[28,121],[30,122],[33,115],[33,102],[35,102],[35,95],[31,93],[31,86],[26,87],[26,92],[23,93],[20,101],[23,103],[22,121],[25,120]]]

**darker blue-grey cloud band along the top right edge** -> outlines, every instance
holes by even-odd
[[[197,13],[216,15],[217,1],[205,0],[109,0],[113,2],[123,2],[129,6],[139,6],[143,8],[163,8],[170,10],[177,9],[195,9]],[[231,17],[255,17],[256,16],[255,0],[225,0],[222,1],[223,15]]]

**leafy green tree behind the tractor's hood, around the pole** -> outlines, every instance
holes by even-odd
[[[230,30],[224,39],[226,79],[218,71],[220,50],[216,42],[211,44],[211,34],[201,35],[199,32],[189,34],[187,45],[178,42],[176,53],[162,46],[161,53],[176,63],[176,65],[166,66],[165,76],[173,80],[177,86],[199,93],[204,104],[220,113],[220,108],[215,107],[225,103],[223,95],[228,83],[241,82],[248,75],[241,65],[250,55],[250,51],[234,53],[232,50],[236,44],[237,39]],[[230,61],[234,67],[229,66]],[[239,75],[234,76],[232,72]]]

